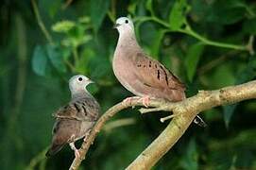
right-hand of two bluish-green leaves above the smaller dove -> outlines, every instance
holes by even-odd
[[[47,54],[48,57],[51,61],[51,63],[53,64],[53,66],[61,73],[65,73],[66,72],[66,67],[64,64],[64,61],[61,57],[61,53],[58,50],[58,48],[56,46],[53,45],[47,45],[46,46],[47,49]]]

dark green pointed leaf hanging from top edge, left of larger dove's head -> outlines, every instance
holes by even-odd
[[[109,0],[91,0],[90,14],[92,24],[94,26],[94,31],[97,31],[99,26],[101,26],[101,23],[108,11],[109,6]]]

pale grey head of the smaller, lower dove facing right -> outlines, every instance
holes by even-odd
[[[90,78],[83,75],[72,76],[69,79],[69,89],[71,93],[85,92],[88,84],[94,83]]]

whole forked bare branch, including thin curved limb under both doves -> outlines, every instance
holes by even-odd
[[[243,100],[256,98],[256,80],[245,84],[230,86],[215,91],[199,91],[195,96],[186,100],[170,103],[160,99],[150,100],[149,106],[170,110],[177,116],[162,131],[160,136],[149,144],[145,150],[128,165],[128,170],[150,169],[158,162],[162,156],[177,143],[185,130],[193,122],[196,114],[203,110],[209,110],[220,105],[237,103]],[[75,159],[70,166],[70,170],[76,170],[82,160],[85,159],[86,152],[99,130],[104,126],[115,113],[130,106],[143,106],[138,97],[133,97],[130,104],[125,106],[119,103],[107,110],[97,121],[87,142],[84,142],[79,149],[81,159]],[[144,110],[145,111],[145,110]]]

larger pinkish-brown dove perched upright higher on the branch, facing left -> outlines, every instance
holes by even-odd
[[[145,107],[149,98],[164,98],[172,102],[185,99],[185,86],[179,78],[158,60],[148,57],[138,44],[132,21],[121,17],[116,20],[114,27],[119,32],[119,38],[112,68],[120,83],[129,92],[141,96]],[[198,116],[194,122],[203,127],[206,125]]]

